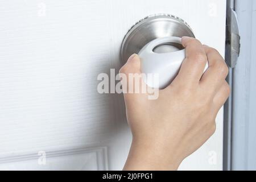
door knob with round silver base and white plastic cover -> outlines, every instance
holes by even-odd
[[[179,72],[185,59],[185,48],[181,37],[195,38],[184,20],[173,15],[151,15],[136,23],[126,34],[121,47],[121,60],[138,53],[141,57],[141,71],[146,74],[146,84],[152,88],[164,89]],[[205,70],[208,64],[205,66]],[[159,82],[148,74],[157,74]]]

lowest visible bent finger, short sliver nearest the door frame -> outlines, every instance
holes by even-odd
[[[229,84],[228,82],[223,81],[220,89],[218,90],[217,94],[213,98],[213,103],[217,108],[216,113],[225,104],[226,100],[229,97],[229,94],[230,94]]]

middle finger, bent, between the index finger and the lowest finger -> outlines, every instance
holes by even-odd
[[[210,94],[215,94],[222,86],[226,76],[228,76],[229,69],[216,49],[208,46],[204,46],[204,49],[207,53],[209,68],[202,76],[200,84],[205,88],[212,88],[212,93]]]

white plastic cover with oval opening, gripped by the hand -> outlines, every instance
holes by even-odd
[[[144,79],[144,81],[151,88],[164,89],[171,84],[185,59],[185,48],[164,53],[154,51],[156,47],[171,43],[181,45],[181,38],[168,36],[152,40],[138,53],[142,61],[141,71],[146,74],[146,80]],[[207,68],[208,63],[205,65],[204,72]],[[155,81],[154,76],[157,76],[159,80]]]

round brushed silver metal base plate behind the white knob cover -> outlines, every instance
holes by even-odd
[[[154,39],[167,36],[190,36],[195,38],[193,31],[183,19],[170,14],[150,15],[139,20],[125,35],[121,47],[121,61],[125,64],[133,53]]]

